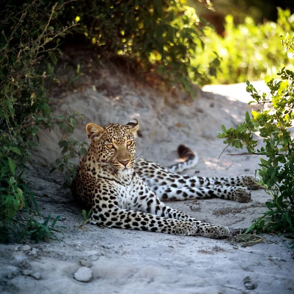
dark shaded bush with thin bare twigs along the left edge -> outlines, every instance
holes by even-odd
[[[52,235],[57,220],[49,229],[49,220],[41,224],[31,218],[32,207],[40,214],[23,173],[30,159],[28,148],[38,146],[38,126],[50,126],[44,88],[48,74],[41,69],[43,59],[56,59],[52,50],[68,28],[51,26],[63,5],[39,0],[23,1],[23,5],[13,0],[1,4],[0,241],[7,241],[11,230],[19,233],[19,239],[30,235],[38,241]],[[20,210],[24,213],[17,217]]]

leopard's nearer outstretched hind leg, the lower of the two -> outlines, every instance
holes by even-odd
[[[245,187],[206,186],[195,188],[173,188],[167,186],[152,186],[150,188],[160,199],[164,200],[187,200],[218,197],[238,202],[249,202],[251,197],[250,191]]]

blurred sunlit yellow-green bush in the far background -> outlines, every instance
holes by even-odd
[[[206,50],[198,52],[192,64],[205,66],[206,60],[217,52],[222,60],[220,72],[207,83],[219,84],[263,79],[277,73],[280,64],[294,70],[293,58],[289,58],[289,52],[283,52],[276,42],[287,31],[294,33],[294,14],[291,15],[290,10],[278,8],[277,23],[261,25],[256,25],[251,17],[246,17],[244,24],[234,25],[233,17],[228,15],[224,37],[209,27],[205,28],[203,42]]]

